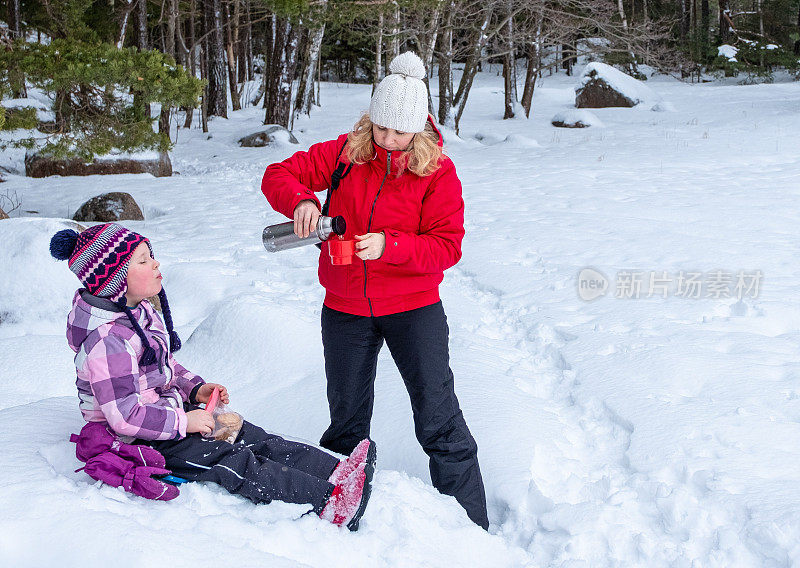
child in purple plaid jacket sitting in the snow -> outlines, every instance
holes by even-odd
[[[50,252],[68,260],[84,285],[67,318],[67,340],[76,353],[87,422],[107,424],[122,442],[156,449],[166,467],[187,480],[214,481],[255,503],[308,503],[323,519],[358,529],[370,494],[374,442],[363,440],[340,462],[247,421],[235,443],[204,437],[214,418],[197,404],[208,402],[215,388],[227,404],[228,393],[172,357],[180,340],[150,242],[107,223],[80,234],[59,231]],[[166,326],[146,299],[156,294]]]

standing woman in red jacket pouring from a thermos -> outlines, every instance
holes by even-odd
[[[461,182],[428,116],[422,61],[406,52],[390,69],[352,132],[270,165],[261,189],[306,237],[321,214],[314,192],[331,187],[327,214],[343,216],[344,237],[357,240],[358,260],[350,265],[333,265],[327,243],[319,258],[331,415],[320,444],[349,454],[369,435],[386,341],[411,398],[433,485],[488,528],[478,448],[453,389],[438,290],[443,272],[461,258]]]

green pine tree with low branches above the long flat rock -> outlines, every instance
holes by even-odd
[[[42,152],[87,160],[112,149],[168,149],[169,137],[153,130],[145,105],[195,106],[203,87],[159,51],[68,39],[0,51],[0,69],[22,70],[32,85],[55,98],[56,123]],[[0,71],[0,88],[9,84],[9,72]],[[18,142],[33,143],[32,138]]]

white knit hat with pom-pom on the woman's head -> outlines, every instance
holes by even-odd
[[[389,64],[391,74],[380,82],[369,104],[369,119],[378,126],[400,132],[422,132],[428,120],[425,65],[413,51]]]

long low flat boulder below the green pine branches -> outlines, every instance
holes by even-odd
[[[166,152],[112,154],[100,156],[91,164],[77,158],[53,158],[35,153],[25,155],[25,175],[28,177],[95,174],[152,174],[155,177],[167,177],[172,175],[172,162]]]

